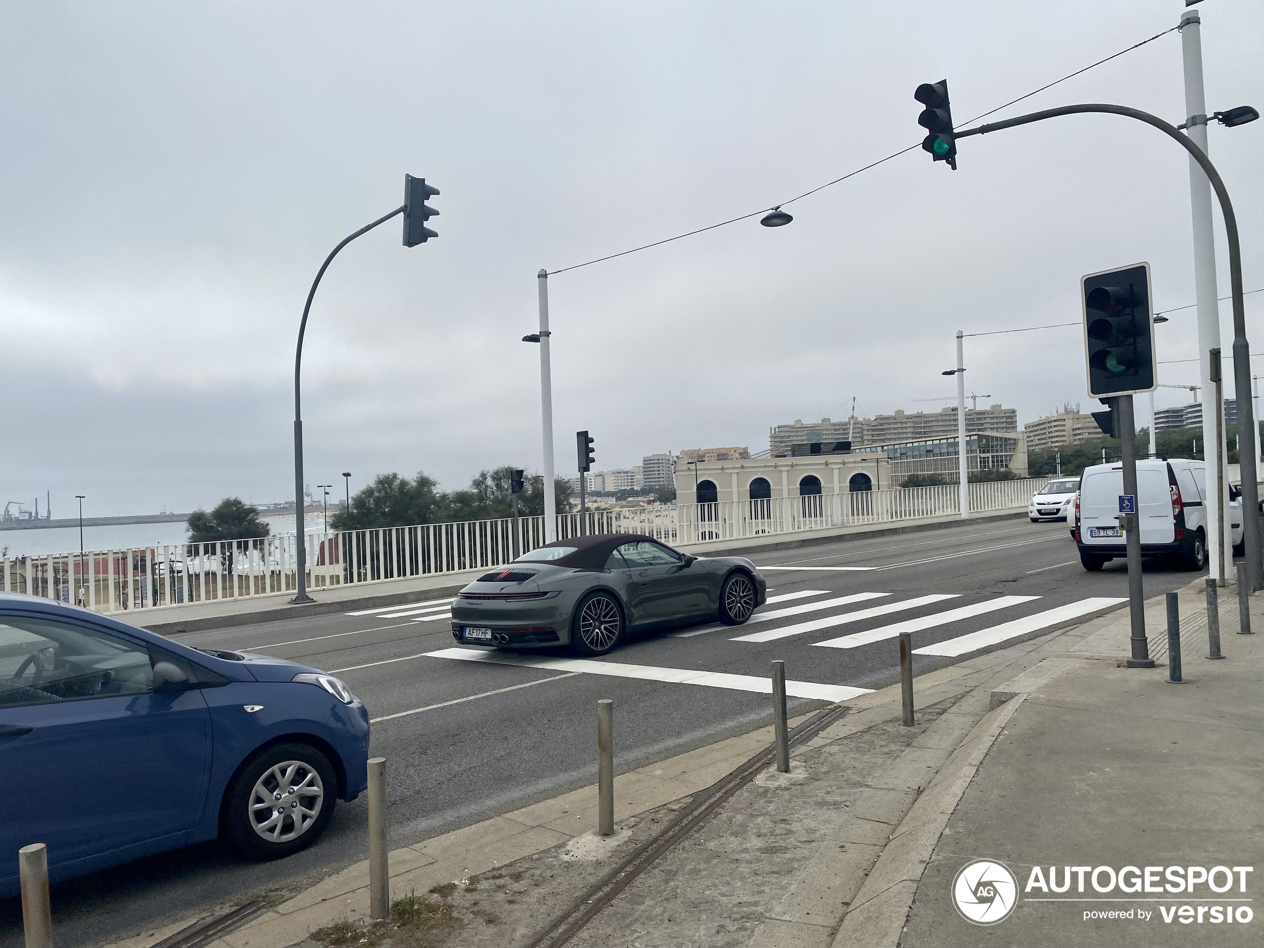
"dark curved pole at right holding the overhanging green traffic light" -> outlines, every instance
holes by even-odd
[[[1081,105],[1063,105],[1057,109],[1044,109],[1030,115],[1019,115],[1014,119],[994,121],[980,125],[975,129],[956,131],[958,139],[969,135],[986,135],[990,131],[1001,131],[1019,125],[1028,125],[1033,121],[1044,121],[1062,115],[1122,115],[1127,119],[1144,121],[1146,125],[1157,128],[1168,138],[1184,148],[1211,179],[1211,187],[1220,201],[1220,214],[1225,220],[1225,238],[1229,244],[1229,295],[1234,301],[1234,397],[1237,401],[1237,455],[1241,461],[1243,474],[1243,542],[1246,545],[1246,583],[1254,592],[1260,588],[1260,516],[1259,516],[1259,471],[1256,444],[1259,432],[1255,430],[1255,411],[1251,404],[1251,351],[1246,341],[1246,302],[1243,295],[1243,245],[1237,236],[1237,215],[1234,212],[1234,202],[1229,198],[1229,188],[1198,145],[1182,135],[1176,126],[1164,121],[1158,115],[1130,109],[1126,105],[1110,105],[1107,102],[1083,102]]]

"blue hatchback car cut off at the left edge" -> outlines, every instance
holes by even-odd
[[[0,896],[30,843],[53,881],[220,836],[288,856],[364,790],[368,750],[317,669],[0,593]]]

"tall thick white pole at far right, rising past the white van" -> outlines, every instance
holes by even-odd
[[[1202,88],[1202,37],[1197,10],[1186,10],[1181,15],[1181,52],[1184,59],[1186,85],[1186,135],[1198,148],[1207,152],[1207,105]],[[1211,350],[1220,349],[1220,303],[1216,302],[1216,241],[1212,235],[1211,182],[1198,167],[1193,155],[1189,157],[1189,210],[1193,217],[1193,282],[1194,300],[1198,306],[1198,367],[1202,373],[1202,391],[1211,392]],[[1203,455],[1208,461],[1227,456],[1225,446],[1225,416],[1216,411],[1213,398],[1202,399],[1202,440]],[[1207,450],[1215,445],[1215,450]],[[1208,471],[1211,474],[1211,471]],[[1221,585],[1225,576],[1234,570],[1234,556],[1225,549],[1221,538],[1224,525],[1229,516],[1229,495],[1222,488],[1227,483],[1229,471],[1221,464],[1216,477],[1207,478],[1207,507],[1215,521],[1207,525],[1207,559],[1211,561],[1211,576]]]

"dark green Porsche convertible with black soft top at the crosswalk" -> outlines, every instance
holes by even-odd
[[[709,619],[741,626],[767,589],[741,556],[689,556],[640,533],[571,537],[465,586],[453,603],[453,638],[604,655],[633,628]]]

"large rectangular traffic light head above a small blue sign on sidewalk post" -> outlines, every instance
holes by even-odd
[[[1138,263],[1081,279],[1085,364],[1095,398],[1155,389],[1150,264]]]

